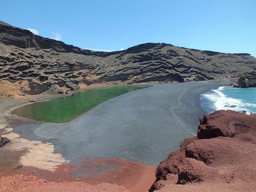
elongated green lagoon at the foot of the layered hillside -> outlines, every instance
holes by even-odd
[[[145,88],[145,86],[116,86],[89,89],[69,97],[26,105],[15,109],[12,114],[36,121],[65,123],[104,101],[142,88]]]

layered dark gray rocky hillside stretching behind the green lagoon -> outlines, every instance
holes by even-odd
[[[117,52],[83,50],[0,22],[0,96],[59,93],[91,84],[221,79],[256,70],[250,54],[147,43]]]

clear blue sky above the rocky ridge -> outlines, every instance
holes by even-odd
[[[92,50],[154,42],[256,57],[256,0],[0,0],[0,20]]]

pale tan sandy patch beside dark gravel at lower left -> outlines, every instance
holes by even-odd
[[[23,166],[34,166],[39,169],[54,171],[58,165],[69,162],[60,153],[53,153],[54,145],[52,143],[23,139],[20,138],[19,134],[14,132],[9,132],[8,134],[2,135],[2,137],[10,139],[11,142],[1,150],[28,151],[20,157],[20,164]]]

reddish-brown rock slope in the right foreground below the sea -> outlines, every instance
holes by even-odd
[[[256,115],[220,110],[160,163],[151,191],[255,191]]]

